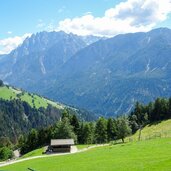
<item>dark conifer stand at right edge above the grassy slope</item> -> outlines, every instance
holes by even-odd
[[[134,110],[129,114],[129,122],[132,133],[142,129],[147,124],[167,120],[171,118],[171,98],[157,98],[147,105],[135,104]]]

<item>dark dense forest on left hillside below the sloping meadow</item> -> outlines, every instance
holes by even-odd
[[[51,125],[59,120],[60,115],[61,111],[50,105],[46,109],[36,109],[18,99],[0,99],[0,135],[15,143],[21,133]]]

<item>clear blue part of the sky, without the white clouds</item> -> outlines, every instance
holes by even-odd
[[[42,20],[47,25],[58,24],[65,18],[82,16],[92,12],[103,16],[104,11],[119,0],[2,0],[0,4],[0,39],[11,35],[21,36],[42,30],[37,25]]]

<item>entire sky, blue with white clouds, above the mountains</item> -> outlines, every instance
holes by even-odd
[[[111,37],[157,27],[171,28],[171,0],[1,0],[0,54],[44,30]]]

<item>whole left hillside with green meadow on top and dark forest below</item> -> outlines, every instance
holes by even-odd
[[[96,116],[53,102],[44,97],[4,85],[0,81],[0,138],[9,137],[17,142],[20,134],[32,128],[43,128],[59,120],[64,110],[77,115],[80,120],[94,120]]]

